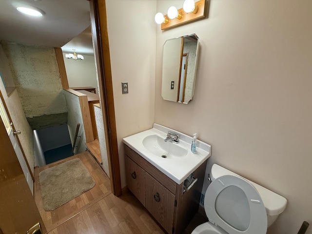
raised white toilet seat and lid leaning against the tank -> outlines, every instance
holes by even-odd
[[[258,191],[240,176],[216,178],[207,189],[204,207],[209,221],[229,234],[266,234],[267,213]]]

